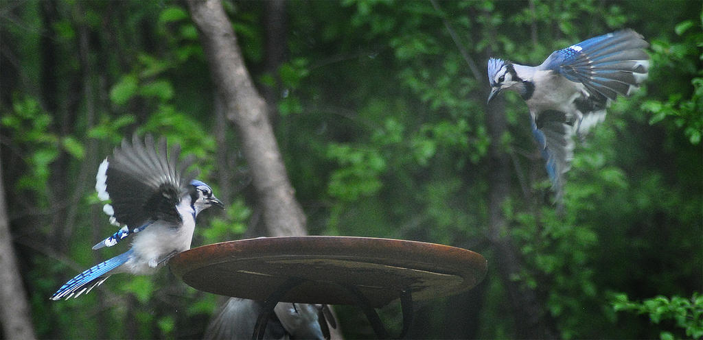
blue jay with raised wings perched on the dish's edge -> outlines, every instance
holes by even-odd
[[[100,200],[110,200],[103,207],[110,223],[121,228],[93,249],[112,247],[135,234],[131,249],[72,278],[52,300],[90,292],[115,273],[153,274],[172,256],[191,248],[198,213],[224,205],[207,184],[193,179],[195,173],[186,173],[193,159],[179,162],[180,153],[176,145],[167,155],[165,138],[155,145],[152,136],[141,143],[135,135],[131,144],[122,140],[122,147],[105,158],[95,188]]]

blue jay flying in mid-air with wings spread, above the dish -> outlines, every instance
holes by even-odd
[[[488,60],[488,101],[503,89],[525,100],[557,202],[574,157],[573,136],[585,136],[617,95],[629,96],[647,79],[647,46],[637,32],[621,30],[554,51],[534,67]]]

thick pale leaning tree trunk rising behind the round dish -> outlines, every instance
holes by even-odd
[[[224,100],[227,118],[242,141],[268,235],[305,235],[305,215],[295,200],[269,122],[266,102],[254,88],[237,37],[219,0],[189,0],[210,73]]]

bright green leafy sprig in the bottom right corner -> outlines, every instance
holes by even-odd
[[[693,293],[690,298],[682,296],[656,296],[642,302],[631,301],[627,294],[614,294],[611,302],[614,310],[646,314],[650,321],[659,324],[665,320],[673,320],[674,326],[685,329],[687,337],[701,339],[703,337],[703,296]],[[659,339],[676,339],[669,331],[659,333]]]

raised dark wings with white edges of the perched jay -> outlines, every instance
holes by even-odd
[[[122,140],[112,157],[101,163],[96,176],[98,198],[110,200],[103,211],[110,215],[110,223],[122,228],[93,249],[111,247],[154,221],[181,222],[176,206],[188,193],[195,173],[186,174],[193,159],[181,162],[180,153],[179,145],[168,152],[165,138],[156,144],[152,136],[146,135],[142,143],[134,135],[131,144]]]

